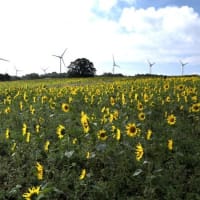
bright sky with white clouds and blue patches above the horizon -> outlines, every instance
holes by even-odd
[[[67,48],[62,72],[200,74],[199,35],[199,0],[0,0],[0,73],[59,73]]]

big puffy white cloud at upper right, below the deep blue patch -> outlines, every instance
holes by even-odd
[[[187,6],[157,10],[153,7],[125,8],[119,22],[132,41],[135,38],[136,49],[143,49],[144,54],[153,51],[159,59],[168,56],[171,61],[173,54],[180,56],[198,52],[200,18]]]

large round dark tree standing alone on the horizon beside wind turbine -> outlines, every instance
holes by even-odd
[[[86,58],[78,58],[68,66],[69,77],[91,77],[96,73],[92,62]]]

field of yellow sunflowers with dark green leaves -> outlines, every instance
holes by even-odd
[[[0,199],[200,200],[200,77],[0,83]]]

